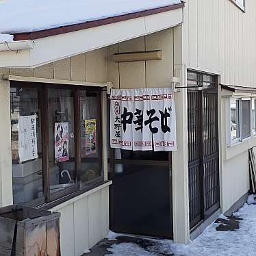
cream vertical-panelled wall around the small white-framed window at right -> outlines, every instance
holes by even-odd
[[[188,0],[183,23],[184,64],[219,75],[220,84],[256,87],[256,1],[242,12],[230,0]],[[221,92],[221,90],[220,90]],[[249,190],[248,149],[255,138],[227,147],[226,99],[220,96],[220,201],[227,211]],[[222,105],[222,107],[221,107]]]

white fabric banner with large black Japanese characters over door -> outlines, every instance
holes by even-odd
[[[112,89],[110,144],[133,151],[176,151],[171,88]]]

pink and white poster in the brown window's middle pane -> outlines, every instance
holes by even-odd
[[[55,123],[54,138],[55,163],[68,161],[68,123]]]

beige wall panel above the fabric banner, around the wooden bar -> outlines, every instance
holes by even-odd
[[[170,86],[173,74],[173,29],[114,44],[107,49],[108,81],[115,88],[153,88]],[[162,50],[162,60],[146,62],[112,62],[114,53]]]

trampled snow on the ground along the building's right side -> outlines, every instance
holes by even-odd
[[[216,231],[218,224],[213,223],[188,245],[175,244],[170,240],[153,240],[157,245],[147,251],[131,243],[114,244],[108,251],[114,256],[156,256],[170,253],[177,256],[255,256],[256,205],[245,204],[235,216],[243,218],[237,231]],[[110,236],[115,237],[113,233]]]

